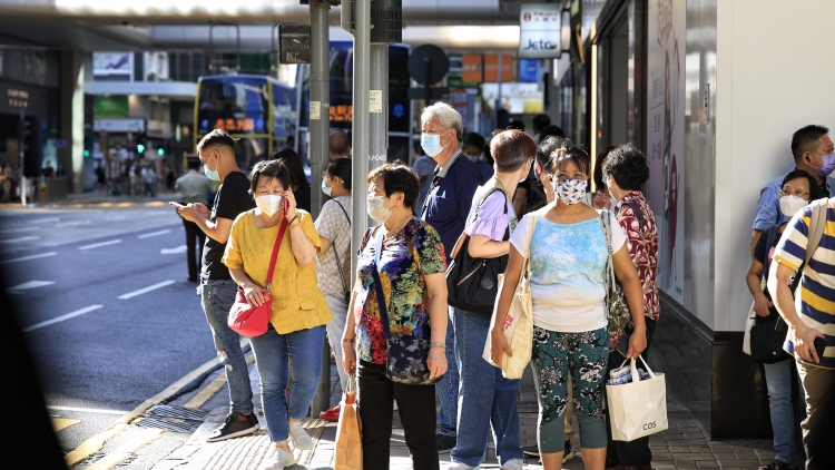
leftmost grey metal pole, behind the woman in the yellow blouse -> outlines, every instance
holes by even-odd
[[[322,169],[328,157],[328,124],[331,109],[331,77],[328,60],[328,23],[327,1],[311,1],[311,108],[318,106],[320,116],[311,117],[311,210],[313,217],[318,217],[322,208]],[[318,105],[314,105],[318,102]],[[336,347],[342,345],[337,344]],[[322,374],[318,390],[311,403],[311,417],[316,418],[322,411],[331,408],[331,347],[325,336],[322,351]]]

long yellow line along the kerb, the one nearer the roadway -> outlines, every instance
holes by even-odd
[[[205,374],[206,372],[210,371],[212,369],[216,366],[217,366],[217,359],[216,358],[210,359],[209,361],[207,361],[199,368],[187,373],[185,376],[183,376],[183,379],[168,385],[168,388],[166,388],[161,392],[149,398],[148,400],[145,400],[139,407],[135,408],[134,411],[127,414],[124,414],[121,418],[116,420],[116,422],[110,424],[110,427],[107,428],[106,430],[81,442],[79,447],[77,447],[72,452],[68,453],[65,457],[65,460],[67,461],[67,467],[73,467],[76,463],[85,459],[88,459],[94,453],[100,451],[105,447],[105,443],[107,441],[112,439],[115,435],[119,434],[121,431],[129,429],[128,423],[141,417],[143,413],[148,411],[151,407],[155,407],[161,403],[164,400],[168,399],[169,396],[173,396],[175,393],[179,392],[184,386],[191,383],[195,379],[199,378],[200,375]]]

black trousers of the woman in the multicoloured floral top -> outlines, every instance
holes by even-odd
[[[363,433],[363,469],[389,470],[392,414],[397,401],[400,421],[414,470],[439,470],[435,441],[435,385],[405,385],[390,381],[385,366],[357,361],[357,403]]]

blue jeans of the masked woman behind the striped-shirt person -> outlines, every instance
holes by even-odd
[[[785,360],[775,364],[763,364],[766,388],[768,388],[768,407],[772,410],[776,459],[789,463],[795,461],[795,412],[792,404],[793,363],[792,360]]]

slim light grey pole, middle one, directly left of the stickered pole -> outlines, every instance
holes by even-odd
[[[351,252],[362,243],[362,236],[367,226],[365,196],[369,185],[369,88],[371,59],[371,0],[356,0],[354,3],[354,117],[351,131],[351,147],[353,149],[352,167],[352,208]],[[356,282],[356,256],[351,257],[351,282]]]

